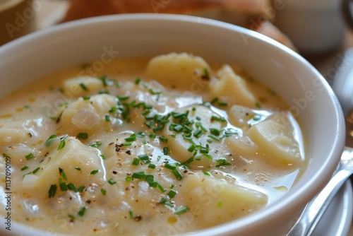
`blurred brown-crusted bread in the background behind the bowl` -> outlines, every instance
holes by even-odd
[[[286,35],[264,20],[268,7],[270,0],[71,0],[62,21],[122,13],[200,16],[256,30],[297,51]]]

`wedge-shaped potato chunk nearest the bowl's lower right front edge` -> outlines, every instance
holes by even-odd
[[[188,175],[180,189],[186,205],[194,212],[195,220],[209,226],[225,223],[262,208],[268,199],[265,194],[229,184],[224,179],[206,176],[203,172]]]

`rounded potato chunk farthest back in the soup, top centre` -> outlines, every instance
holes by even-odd
[[[145,76],[179,90],[198,93],[202,88],[207,87],[206,81],[201,76],[204,73],[203,70],[209,68],[210,66],[201,57],[187,53],[170,53],[152,58],[148,63]]]

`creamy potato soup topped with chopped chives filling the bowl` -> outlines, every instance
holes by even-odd
[[[210,228],[274,203],[305,165],[299,124],[273,90],[186,53],[76,66],[0,111],[1,213],[50,232]]]

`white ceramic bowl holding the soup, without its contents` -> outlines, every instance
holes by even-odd
[[[131,14],[88,18],[42,30],[0,47],[0,94],[6,95],[68,66],[102,61],[102,54],[107,55],[109,50],[119,58],[191,52],[210,62],[237,63],[285,98],[302,124],[308,164],[285,197],[251,216],[196,235],[283,235],[333,174],[344,147],[345,126],[340,105],[328,83],[311,64],[287,47],[215,20]],[[4,223],[1,225],[0,229],[5,231]],[[1,230],[1,235],[8,233]],[[50,229],[30,230],[13,222],[11,233],[53,233]]]

